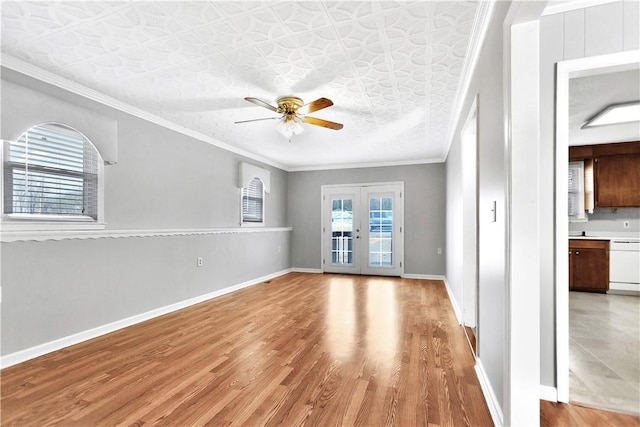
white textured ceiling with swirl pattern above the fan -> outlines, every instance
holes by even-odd
[[[295,170],[442,160],[477,2],[9,2],[2,52]],[[6,56],[5,56],[6,57]],[[281,95],[334,106],[289,143]]]

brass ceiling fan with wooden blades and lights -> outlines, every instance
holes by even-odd
[[[307,114],[313,113],[314,111],[331,107],[333,105],[333,102],[327,98],[318,98],[315,101],[304,104],[302,102],[302,99],[296,96],[281,96],[276,100],[277,106],[273,106],[266,101],[253,97],[246,97],[245,100],[259,105],[260,107],[271,110],[275,113],[278,113],[280,114],[280,116],[266,117],[263,119],[241,120],[235,123],[257,122],[260,120],[278,120],[276,130],[284,135],[285,138],[289,138],[289,140],[291,140],[291,137],[293,135],[298,135],[304,130],[304,128],[302,127],[302,123],[322,126],[334,130],[340,130],[343,127],[341,123],[330,122],[328,120],[307,116]]]

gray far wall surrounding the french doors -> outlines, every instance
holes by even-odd
[[[322,185],[404,181],[405,273],[445,272],[444,164],[356,168],[289,174],[288,213],[291,265],[320,269]],[[437,248],[443,248],[438,255]]]

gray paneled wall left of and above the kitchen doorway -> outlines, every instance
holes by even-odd
[[[639,48],[639,7],[624,1],[540,21],[540,383],[555,387],[555,64]]]

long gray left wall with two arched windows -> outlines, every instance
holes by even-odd
[[[105,166],[107,232],[238,227],[241,161],[271,171],[266,223],[287,225],[286,172],[15,72],[2,77],[117,120],[118,163]],[[20,102],[3,96],[2,112]],[[290,234],[4,242],[1,354],[286,270]]]

